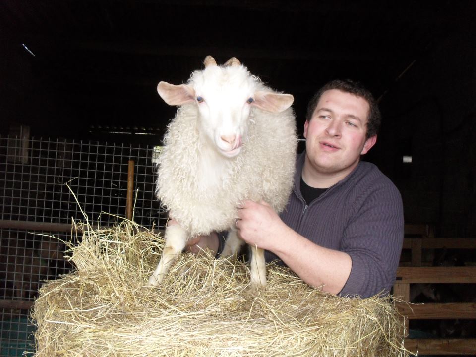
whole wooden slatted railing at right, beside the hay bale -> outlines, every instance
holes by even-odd
[[[405,318],[408,334],[409,320],[476,319],[476,302],[435,302],[412,304],[412,284],[476,284],[476,266],[421,266],[422,249],[476,249],[476,238],[434,238],[428,225],[406,225],[404,249],[411,249],[411,265],[400,266],[393,287],[399,312]],[[408,264],[406,264],[408,265]],[[476,355],[476,338],[405,338],[405,348],[418,355]]]

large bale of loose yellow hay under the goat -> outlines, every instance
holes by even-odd
[[[245,264],[208,251],[181,254],[150,288],[162,237],[130,221],[82,231],[75,271],[35,301],[36,357],[408,356],[390,297],[336,297],[275,264],[257,291]]]

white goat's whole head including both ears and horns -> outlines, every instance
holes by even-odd
[[[205,69],[192,73],[187,84],[160,82],[159,95],[169,105],[197,106],[199,135],[225,157],[235,157],[248,141],[251,107],[279,113],[293,103],[291,94],[271,91],[259,84],[246,67],[231,58],[217,66],[211,56]],[[261,87],[261,88],[258,88]]]

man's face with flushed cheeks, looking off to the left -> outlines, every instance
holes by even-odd
[[[376,141],[376,136],[365,138],[369,109],[361,97],[325,91],[304,124],[306,164],[320,174],[347,176]]]

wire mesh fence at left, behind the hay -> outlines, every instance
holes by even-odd
[[[71,239],[72,219],[111,226],[128,215],[164,227],[155,155],[152,146],[0,136],[1,356],[31,351],[28,309],[45,279],[72,269],[56,239]]]

